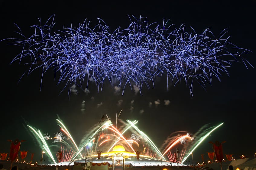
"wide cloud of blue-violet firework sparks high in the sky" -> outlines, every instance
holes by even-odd
[[[252,66],[241,57],[251,51],[229,43],[224,38],[227,29],[216,39],[210,29],[197,34],[193,28],[187,31],[184,24],[168,27],[168,20],[150,23],[144,17],[129,18],[128,28],[115,32],[99,18],[93,29],[85,20],[76,28],[56,31],[53,15],[47,21],[51,23],[33,25],[35,31],[29,38],[20,33],[23,38],[14,39],[12,44],[21,46],[22,51],[11,63],[30,59],[28,74],[42,69],[41,86],[43,74],[53,69],[55,74],[60,73],[58,84],[64,82],[64,88],[74,83],[82,87],[84,82],[88,88],[93,80],[102,90],[104,82],[109,81],[113,87],[121,86],[122,94],[126,85],[132,88],[133,84],[141,93],[142,85],[149,88],[156,76],[165,76],[167,87],[170,82],[184,80],[192,94],[193,82],[204,87],[213,78],[220,81],[221,73],[228,74],[227,67],[238,59],[246,68]]]

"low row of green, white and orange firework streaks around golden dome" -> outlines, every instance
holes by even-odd
[[[187,159],[187,157],[198,147],[200,143],[203,142],[207,136],[209,136],[210,133],[212,133],[216,128],[218,128],[220,125],[216,127],[210,127],[206,128],[207,125],[202,127],[196,134],[194,134],[194,137],[191,137],[189,133],[179,132],[182,134],[175,135],[175,133],[171,134],[170,137],[168,137],[167,141],[164,143],[165,149],[160,152],[158,147],[153,143],[153,141],[142,131],[139,130],[135,124],[138,123],[137,120],[130,121],[127,120],[128,123],[124,123],[122,125],[123,128],[117,129],[115,126],[111,124],[111,122],[106,122],[104,125],[99,127],[99,129],[93,129],[91,132],[89,132],[88,140],[84,141],[82,144],[80,144],[81,147],[77,148],[77,150],[73,150],[71,146],[74,145],[75,141],[64,141],[63,139],[66,138],[66,135],[62,134],[61,132],[55,133],[55,137],[53,138],[52,143],[60,142],[60,152],[63,153],[62,159],[58,160],[59,162],[64,161],[74,161],[74,160],[80,160],[84,157],[86,152],[86,146],[90,146],[94,142],[94,137],[96,135],[96,132],[102,129],[102,133],[100,134],[99,138],[99,145],[97,150],[108,150],[106,152],[111,151],[111,149],[115,145],[122,145],[125,147],[126,151],[129,152],[136,152],[135,150],[141,150],[142,154],[145,156],[150,156],[151,158],[157,158],[166,160],[165,157],[169,159],[170,162],[179,162],[183,164],[183,162]],[[57,123],[61,124],[61,130],[63,130],[62,127],[65,127],[63,122],[60,120],[57,121]],[[41,147],[46,151],[47,156],[50,156],[50,158],[53,160],[54,163],[58,162],[55,161],[52,151],[50,150],[51,147],[56,147],[56,145],[49,146],[46,141],[50,141],[50,135],[45,134],[45,136],[41,135],[41,132],[38,130],[38,132],[28,125],[30,128],[30,131],[36,137],[38,143]],[[66,129],[66,127],[65,127]],[[134,131],[135,130],[135,131]],[[67,131],[67,129],[66,129]],[[71,137],[71,134],[68,133]],[[125,136],[128,136],[127,138]],[[186,141],[190,141],[187,142]],[[66,149],[64,149],[64,146]],[[179,157],[176,160],[175,157],[175,151],[173,151],[174,148],[177,149],[177,147],[180,148],[181,153],[179,153]],[[143,150],[143,151],[142,151]],[[80,154],[80,158],[77,158],[77,156]],[[96,154],[96,153],[95,153]],[[57,157],[58,154],[56,153]]]

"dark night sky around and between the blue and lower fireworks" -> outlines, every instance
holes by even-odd
[[[1,39],[16,38],[18,31],[30,36],[30,26],[42,23],[55,14],[56,28],[91,21],[91,26],[101,18],[110,29],[118,26],[127,28],[129,16],[147,17],[150,22],[162,22],[170,19],[170,24],[179,27],[182,24],[201,33],[211,28],[218,36],[223,29],[228,29],[229,42],[252,52],[243,57],[254,67],[255,60],[255,1],[1,1]],[[205,89],[194,84],[193,96],[184,83],[170,85],[167,91],[166,80],[159,79],[155,87],[143,87],[141,94],[135,94],[129,87],[122,93],[115,93],[110,85],[102,91],[89,88],[86,94],[79,88],[78,94],[68,94],[63,84],[57,85],[53,71],[44,75],[36,70],[25,74],[27,67],[17,62],[9,64],[21,52],[21,48],[7,45],[11,40],[1,41],[2,56],[2,111],[0,152],[9,152],[7,140],[26,140],[20,150],[35,153],[34,160],[40,161],[41,148],[31,136],[26,122],[40,129],[42,133],[60,132],[56,123],[57,115],[63,120],[73,138],[79,143],[91,126],[97,124],[102,115],[108,115],[115,123],[116,114],[123,121],[139,120],[137,126],[144,131],[160,148],[167,137],[176,131],[188,131],[195,134],[203,125],[224,124],[214,131],[198,149],[193,152],[194,162],[201,161],[201,154],[208,160],[206,152],[213,151],[209,141],[226,141],[224,154],[233,154],[239,159],[243,154],[253,157],[256,152],[255,135],[255,68],[248,69],[241,62],[233,63],[228,68],[229,75],[221,73],[221,81],[214,79],[206,84]],[[19,81],[19,79],[21,80]],[[63,91],[62,91],[63,90]],[[92,100],[92,97],[94,98]],[[119,103],[118,105],[118,101]],[[131,101],[134,100],[131,110]],[[164,100],[170,103],[165,105]],[[83,101],[85,105],[83,106]],[[155,101],[160,104],[155,104]],[[152,106],[149,107],[149,103]],[[102,103],[102,104],[101,104]],[[84,111],[81,111],[84,109]],[[121,125],[119,123],[118,125]],[[53,149],[54,150],[54,149]],[[57,151],[57,149],[56,149]],[[28,154],[30,158],[30,154]],[[188,158],[192,161],[192,158]],[[46,162],[47,162],[46,158]]]

